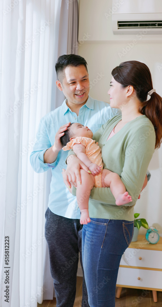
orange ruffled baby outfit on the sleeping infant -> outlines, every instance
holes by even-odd
[[[101,157],[101,148],[98,146],[98,142],[96,143],[92,138],[85,138],[85,137],[77,137],[73,138],[70,142],[66,144],[62,149],[69,150],[73,149],[74,144],[82,144],[85,146],[85,154],[89,158],[89,160],[98,166],[102,166],[101,172],[103,169],[103,162]],[[101,173],[94,176],[95,183],[94,187],[101,188]]]

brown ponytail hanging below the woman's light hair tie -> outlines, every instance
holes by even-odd
[[[155,149],[160,148],[162,142],[162,98],[156,92],[151,94],[148,101],[142,102],[138,111],[151,120],[156,134]]]

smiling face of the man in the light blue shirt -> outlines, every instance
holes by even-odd
[[[89,94],[89,77],[84,65],[67,66],[62,80],[62,91],[69,104],[86,103]]]

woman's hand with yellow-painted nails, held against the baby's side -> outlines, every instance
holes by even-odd
[[[72,185],[77,187],[78,184],[81,184],[80,169],[84,169],[87,173],[90,173],[88,167],[83,162],[81,162],[81,160],[79,160],[73,154],[70,155],[67,158],[66,170],[62,169],[62,176],[67,188],[71,188]]]

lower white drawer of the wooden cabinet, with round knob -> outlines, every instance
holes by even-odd
[[[140,280],[137,278],[140,277]],[[130,269],[120,267],[117,285],[136,286],[145,288],[162,288],[162,271]]]

